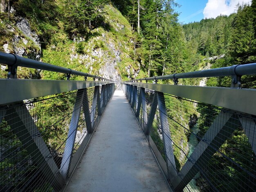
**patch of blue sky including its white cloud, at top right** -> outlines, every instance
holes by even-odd
[[[175,0],[175,2],[181,5],[176,11],[180,13],[179,21],[185,24],[203,18],[216,18],[220,14],[229,16],[236,12],[238,3],[251,4],[252,0]]]

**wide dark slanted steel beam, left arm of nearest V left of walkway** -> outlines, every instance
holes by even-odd
[[[52,186],[56,190],[62,188],[64,179],[59,173],[52,154],[49,152],[24,103],[10,106],[6,111],[4,119],[10,125],[12,132],[19,138],[24,148],[29,152],[34,163],[43,172],[47,181],[51,184],[54,183]]]

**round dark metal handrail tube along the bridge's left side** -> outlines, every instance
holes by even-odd
[[[1,51],[0,51],[0,64],[8,65],[8,71],[9,71],[8,78],[11,78],[11,75],[15,76],[16,69],[19,66],[19,67],[28,67],[33,69],[41,69],[46,71],[54,71],[54,72],[59,72],[59,73],[64,73],[69,75],[84,76],[85,78],[92,77],[92,78],[98,78],[101,80],[110,81],[109,79],[102,78],[100,76],[83,73],[81,71],[76,71],[73,69],[52,65],[49,63],[44,63],[44,62],[40,62],[33,59],[23,58],[15,54],[7,54]]]

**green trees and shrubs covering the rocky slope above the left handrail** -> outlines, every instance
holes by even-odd
[[[10,7],[15,11],[9,14],[6,7],[0,12],[0,51],[7,48],[16,53],[20,49],[24,50],[22,56],[34,59],[36,55],[45,63],[96,75],[106,61],[115,63],[116,60],[119,64],[127,60],[124,65],[138,70],[138,66],[131,64],[132,60],[128,62],[132,50],[130,24],[108,0],[10,0]],[[38,35],[41,47],[16,25],[23,19],[29,22],[32,33]],[[28,42],[24,44],[23,39]],[[117,53],[120,59],[116,58]],[[116,67],[120,71],[119,65]],[[6,76],[2,70],[0,75]],[[128,75],[133,76],[132,70]],[[18,77],[65,79],[65,74],[22,68]],[[75,76],[72,79],[82,80]]]

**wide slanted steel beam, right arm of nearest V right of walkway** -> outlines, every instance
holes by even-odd
[[[220,112],[174,180],[175,191],[182,191],[200,169],[207,167],[210,158],[238,125],[240,121],[236,114]]]

